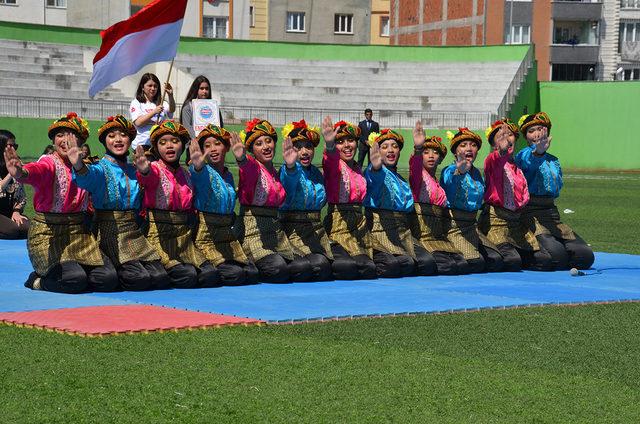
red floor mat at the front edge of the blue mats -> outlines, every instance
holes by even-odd
[[[2,312],[0,322],[81,336],[251,325],[263,321],[149,305]]]

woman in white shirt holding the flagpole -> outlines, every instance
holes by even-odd
[[[160,93],[160,80],[152,73],[146,73],[140,78],[136,98],[131,101],[129,112],[131,121],[136,126],[138,133],[131,143],[131,149],[142,146],[145,150],[151,148],[149,133],[151,127],[161,123],[165,119],[173,119],[173,112],[176,110],[176,101],[173,98],[173,88],[171,84],[165,83],[169,102],[160,104],[162,95]]]

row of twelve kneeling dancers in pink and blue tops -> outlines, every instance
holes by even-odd
[[[78,293],[589,268],[592,250],[554,204],[562,170],[547,152],[550,130],[544,112],[519,125],[496,121],[485,179],[473,165],[482,138],[467,128],[448,133],[454,162],[438,180],[447,148],[418,122],[407,182],[397,172],[404,139],[392,129],[371,134],[363,172],[357,125],[290,123],[277,170],[268,121],[254,119],[239,134],[209,125],[190,140],[167,120],[153,127],[150,151],[139,146],[131,160],[136,128],[118,115],[98,130],[104,157],[88,163],[79,152],[88,126],[69,113],[49,127],[53,154],[23,164],[5,150],[9,173],[34,187],[34,272],[25,285]],[[514,156],[520,134],[528,146]],[[321,135],[323,172],[312,164]]]

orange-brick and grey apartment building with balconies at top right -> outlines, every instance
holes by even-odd
[[[391,0],[392,45],[535,44],[540,81],[640,78],[640,0]]]

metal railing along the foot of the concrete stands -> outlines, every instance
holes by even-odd
[[[85,119],[101,121],[107,116],[116,114],[128,116],[129,105],[129,102],[123,101],[0,96],[0,116],[55,119],[73,111]],[[180,106],[178,105],[178,111]],[[224,123],[227,125],[244,124],[256,117],[266,119],[276,126],[300,119],[319,126],[327,115],[331,116],[334,122],[345,120],[357,123],[363,118],[362,110],[257,108],[251,106],[222,106],[221,110]],[[484,129],[495,120],[495,117],[496,114],[491,112],[376,111],[375,119],[381,128],[413,128],[416,121],[421,120],[425,128],[468,127]]]

